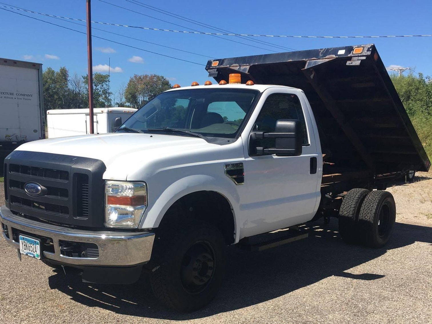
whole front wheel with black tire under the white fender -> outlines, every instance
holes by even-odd
[[[211,224],[196,221],[162,230],[152,254],[150,284],[169,308],[187,312],[211,302],[225,274],[225,241]]]

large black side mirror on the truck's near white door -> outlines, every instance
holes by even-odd
[[[257,146],[257,140],[275,138],[275,147]],[[251,133],[249,148],[251,155],[276,154],[277,156],[299,156],[302,154],[303,132],[299,120],[280,119],[276,121],[275,132]],[[254,154],[255,153],[255,154]]]

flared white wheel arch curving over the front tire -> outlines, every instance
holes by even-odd
[[[228,180],[231,182],[231,180]],[[172,206],[178,199],[185,195],[197,191],[214,191],[224,196],[231,205],[234,215],[234,228],[236,236],[236,214],[238,212],[236,206],[239,205],[238,192],[235,186],[227,186],[227,183],[222,179],[216,179],[213,176],[197,174],[186,176],[168,186],[154,203],[149,204],[149,208],[144,214],[143,220],[140,223],[140,228],[156,228],[159,226],[162,217],[165,215],[168,208]],[[232,185],[232,183],[230,183]],[[237,241],[237,240],[236,240]]]

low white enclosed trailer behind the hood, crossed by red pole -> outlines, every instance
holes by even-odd
[[[94,108],[95,134],[114,132],[114,120],[124,123],[137,109],[126,107]],[[89,109],[51,109],[47,111],[48,137],[65,137],[90,134]]]

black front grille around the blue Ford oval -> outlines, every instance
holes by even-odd
[[[5,159],[6,206],[16,214],[53,223],[102,227],[105,165],[101,160],[13,151]],[[42,187],[40,196],[25,191]]]

